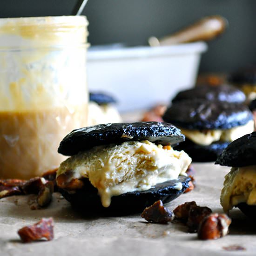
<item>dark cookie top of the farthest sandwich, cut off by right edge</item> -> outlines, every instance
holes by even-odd
[[[234,84],[256,83],[256,67],[247,67],[229,74],[228,81]]]

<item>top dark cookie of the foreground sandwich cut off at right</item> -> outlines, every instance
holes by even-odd
[[[232,167],[256,165],[256,132],[231,142],[215,164]]]

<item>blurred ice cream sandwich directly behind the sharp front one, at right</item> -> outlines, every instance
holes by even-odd
[[[163,120],[182,130],[186,141],[177,146],[193,161],[216,161],[227,145],[253,131],[253,117],[248,107],[224,101],[177,101],[167,109]]]

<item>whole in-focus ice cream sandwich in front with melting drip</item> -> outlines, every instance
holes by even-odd
[[[191,158],[170,145],[184,141],[165,122],[96,125],[77,129],[58,152],[56,182],[71,204],[86,211],[137,212],[161,199],[169,202],[189,187]]]

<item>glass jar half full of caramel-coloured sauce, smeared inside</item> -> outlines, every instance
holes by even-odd
[[[0,19],[0,178],[57,168],[62,138],[86,126],[84,16]]]

